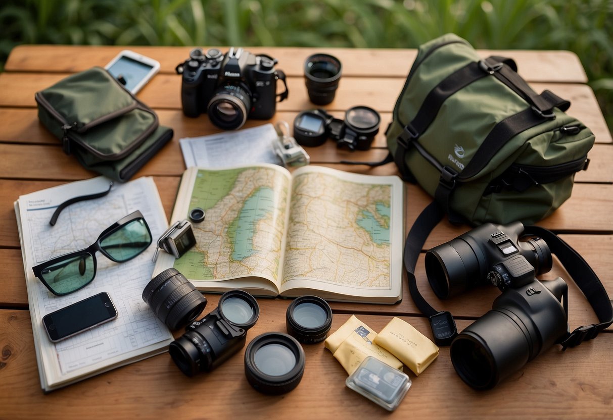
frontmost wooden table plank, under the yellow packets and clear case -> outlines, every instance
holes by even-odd
[[[248,340],[262,332],[285,331],[280,320],[286,302],[280,303],[270,308],[261,305],[260,319],[248,332]],[[332,331],[348,317],[335,315]],[[392,317],[359,318],[380,331]],[[422,318],[403,319],[430,336]],[[459,321],[460,329],[467,325]],[[346,388],[345,370],[322,343],[303,346],[307,364],[302,381],[282,396],[264,396],[249,386],[244,348],[213,372],[192,378],[183,375],[168,354],[160,354],[42,396],[32,345],[28,311],[0,310],[0,375],[11,384],[0,393],[3,417],[80,419],[83,413],[96,417],[104,413],[105,418],[173,418],[181,413],[181,418],[606,419],[611,415],[611,387],[603,383],[602,375],[613,370],[613,334],[601,334],[565,352],[558,346],[549,348],[487,392],[466,386],[454,372],[449,348],[441,348],[419,377],[406,370],[413,384],[391,414]],[[517,391],[518,383],[522,392]],[[520,403],[522,395],[535,403],[526,407]]]

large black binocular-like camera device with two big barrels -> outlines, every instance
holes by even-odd
[[[536,279],[551,269],[551,252],[541,238],[520,238],[523,231],[520,222],[485,223],[425,255],[441,299],[481,283],[502,291],[451,343],[456,372],[476,389],[492,388],[568,333],[568,287],[560,277]]]

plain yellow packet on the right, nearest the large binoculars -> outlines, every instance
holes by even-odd
[[[411,324],[394,317],[373,340],[419,376],[438,357],[438,346]]]

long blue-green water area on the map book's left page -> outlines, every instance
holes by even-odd
[[[256,230],[256,224],[272,212],[274,197],[274,190],[262,187],[245,200],[245,204],[243,204],[243,208],[238,215],[234,252],[232,252],[233,260],[240,261],[256,253],[253,249],[253,234]]]

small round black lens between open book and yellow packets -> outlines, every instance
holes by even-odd
[[[300,296],[289,304],[286,328],[301,343],[319,343],[332,326],[332,309],[318,296]]]

